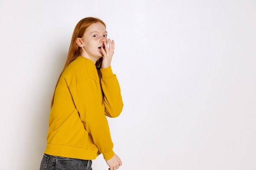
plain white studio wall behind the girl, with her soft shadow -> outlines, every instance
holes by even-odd
[[[256,170],[255,0],[0,0],[0,170],[39,169],[52,92],[88,16],[115,40],[120,170]]]

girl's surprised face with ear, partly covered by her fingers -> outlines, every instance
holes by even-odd
[[[85,30],[82,38],[77,38],[76,44],[81,47],[81,55],[94,63],[103,56],[101,47],[108,43],[106,27],[100,22],[94,23]]]

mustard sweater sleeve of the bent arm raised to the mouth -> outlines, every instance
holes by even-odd
[[[101,87],[104,93],[103,105],[105,115],[115,118],[123,109],[123,100],[117,76],[113,74],[111,66],[101,69]]]

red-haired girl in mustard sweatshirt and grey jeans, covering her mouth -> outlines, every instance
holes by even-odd
[[[40,170],[92,170],[91,160],[101,153],[109,170],[122,165],[106,118],[119,116],[123,109],[110,66],[114,46],[98,18],[87,17],[76,25],[52,98]]]

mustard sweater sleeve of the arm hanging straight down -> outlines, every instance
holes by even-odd
[[[88,78],[70,89],[76,109],[94,144],[108,160],[114,156],[108,120],[102,106],[102,92],[96,80]]]

